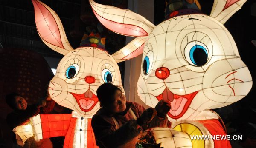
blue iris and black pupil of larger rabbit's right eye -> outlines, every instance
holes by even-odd
[[[193,64],[202,66],[207,63],[209,55],[206,48],[201,45],[195,45],[190,49],[189,57]]]

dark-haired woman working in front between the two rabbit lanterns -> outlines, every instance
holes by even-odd
[[[160,101],[156,108],[145,109],[136,102],[127,102],[121,89],[111,83],[102,84],[96,92],[101,108],[91,123],[99,148],[132,148],[142,131],[169,125],[169,103]]]

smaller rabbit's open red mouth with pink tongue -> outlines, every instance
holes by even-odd
[[[70,94],[72,94],[73,97],[75,97],[80,109],[85,112],[91,111],[99,101],[97,96],[93,94],[93,92],[89,89],[84,94],[75,94],[72,92],[70,92]]]

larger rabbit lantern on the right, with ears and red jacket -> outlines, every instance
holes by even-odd
[[[130,10],[89,1],[110,30],[147,39],[137,83],[145,104],[170,101],[168,119],[174,129],[189,123],[204,135],[226,135],[218,115],[209,109],[241,100],[252,87],[250,72],[223,26],[246,0],[215,0],[210,16],[193,9],[175,11],[157,26]],[[204,147],[230,147],[228,141],[213,141]]]

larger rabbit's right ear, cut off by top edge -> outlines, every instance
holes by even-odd
[[[246,0],[214,0],[210,16],[224,24]]]

